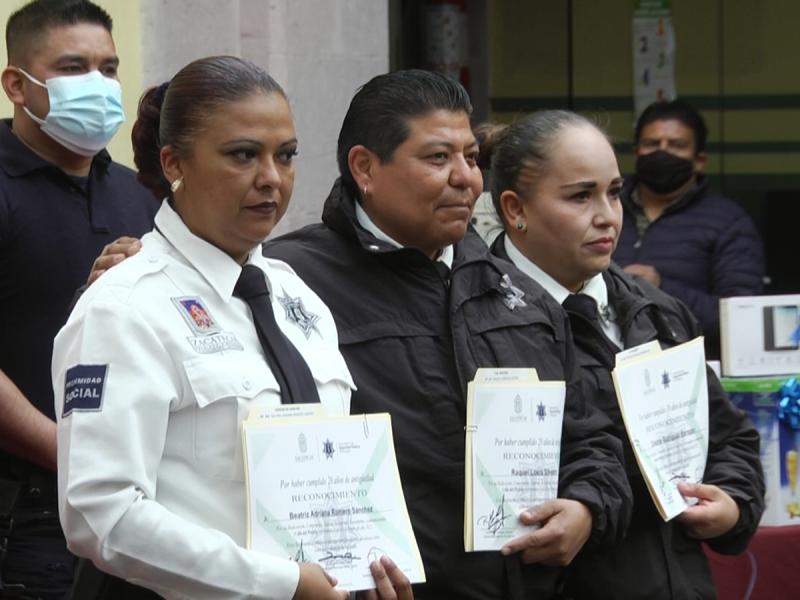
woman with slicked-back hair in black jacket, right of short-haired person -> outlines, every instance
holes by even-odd
[[[611,551],[581,553],[570,568],[568,594],[715,598],[700,540],[735,554],[755,532],[764,509],[758,434],[709,371],[703,483],[680,484],[698,502],[670,522],[661,519],[633,456],[611,370],[622,349],[651,340],[668,348],[700,330],[682,303],[611,263],[622,225],[622,178],[611,144],[584,117],[546,111],[486,135],[481,158],[489,157],[493,201],[505,226],[492,250],[567,310],[587,398],[616,423],[634,493],[627,537]]]

